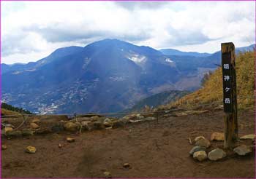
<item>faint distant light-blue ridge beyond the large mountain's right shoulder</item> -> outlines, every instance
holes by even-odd
[[[207,57],[210,53],[198,53],[198,52],[181,52],[178,49],[159,49],[165,55],[177,55],[177,56],[194,56],[194,57]]]

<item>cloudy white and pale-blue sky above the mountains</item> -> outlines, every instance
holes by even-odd
[[[255,1],[1,1],[1,63],[102,39],[185,52],[245,47],[255,43]]]

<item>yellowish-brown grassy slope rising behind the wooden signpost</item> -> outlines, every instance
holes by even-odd
[[[255,103],[255,51],[243,52],[237,55],[236,75],[238,108],[252,108]],[[175,103],[162,106],[162,108],[195,106],[202,103],[222,103],[222,95],[222,69],[217,68],[200,90],[184,96]]]

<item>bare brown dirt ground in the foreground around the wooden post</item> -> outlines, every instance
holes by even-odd
[[[2,139],[8,148],[1,151],[2,178],[255,178],[255,152],[237,156],[227,151],[218,162],[196,162],[189,156],[192,140],[210,138],[224,129],[222,111],[157,121],[129,124],[114,130],[34,135]],[[255,133],[253,111],[238,113],[239,136]],[[67,137],[75,138],[67,143]],[[59,143],[63,146],[59,148]],[[252,145],[252,141],[243,141]],[[212,142],[210,151],[223,142]],[[35,146],[36,154],[26,154]],[[129,163],[129,168],[123,164]]]

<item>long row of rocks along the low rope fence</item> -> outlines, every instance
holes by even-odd
[[[45,121],[44,119],[32,119],[25,122],[20,128],[16,128],[12,124],[4,124],[1,135],[7,138],[23,137],[37,134],[47,134],[51,132],[82,132],[91,130],[115,129],[124,127],[125,124],[146,122],[155,120],[152,114],[130,114],[121,119],[106,118],[104,116],[92,115],[90,117],[82,116],[75,119],[64,119],[60,121]],[[46,124],[45,124],[46,123]],[[45,127],[47,125],[47,127]],[[24,127],[25,126],[25,127]]]

